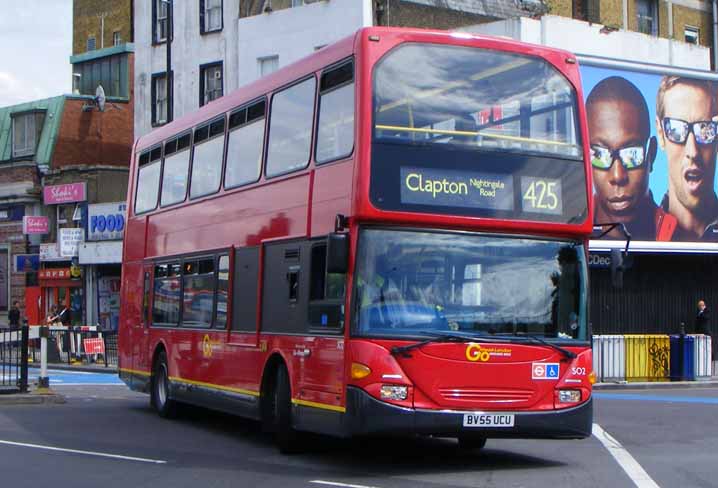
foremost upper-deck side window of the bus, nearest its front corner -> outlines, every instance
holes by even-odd
[[[316,159],[323,163],[354,148],[354,63],[324,72],[319,90]]]

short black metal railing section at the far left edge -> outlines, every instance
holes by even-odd
[[[0,329],[0,393],[27,391],[29,328]]]

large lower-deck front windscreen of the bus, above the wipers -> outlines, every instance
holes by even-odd
[[[579,242],[363,229],[353,333],[586,340],[585,268]]]

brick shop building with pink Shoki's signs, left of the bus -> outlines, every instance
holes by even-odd
[[[31,323],[58,304],[76,324],[112,325],[134,140],[132,11],[131,0],[74,1],[72,94],[0,109],[0,322],[18,300]],[[106,230],[104,211],[114,232],[91,232],[98,219]]]

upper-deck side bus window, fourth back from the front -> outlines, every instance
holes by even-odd
[[[194,131],[194,157],[190,198],[219,190],[224,154],[224,117]]]

